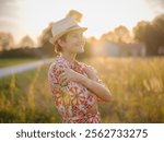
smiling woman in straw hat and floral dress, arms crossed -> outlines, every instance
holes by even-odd
[[[51,27],[50,43],[59,56],[49,68],[48,80],[63,122],[101,122],[97,100],[109,102],[112,96],[96,71],[75,60],[77,54],[84,51],[84,31],[71,17]]]

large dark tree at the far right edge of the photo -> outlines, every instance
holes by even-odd
[[[164,48],[164,14],[152,22],[139,22],[133,27],[133,34],[134,39],[145,44],[148,56],[159,55],[161,48]]]

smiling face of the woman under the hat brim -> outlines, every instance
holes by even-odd
[[[84,51],[84,45],[83,32],[73,31],[67,34],[62,50],[71,54],[80,54]]]

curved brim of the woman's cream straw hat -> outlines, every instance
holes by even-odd
[[[73,27],[73,28],[69,28],[69,29],[67,29],[67,31],[60,33],[60,35],[58,35],[57,37],[51,37],[51,38],[49,39],[49,43],[52,44],[52,45],[55,45],[55,42],[56,42],[59,37],[61,37],[62,35],[65,35],[65,34],[67,34],[67,33],[69,33],[69,32],[72,32],[72,31],[82,31],[82,33],[83,33],[83,32],[85,32],[86,29],[87,29],[87,27]]]

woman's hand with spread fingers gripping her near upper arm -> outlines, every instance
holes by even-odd
[[[68,84],[69,81],[80,82],[81,78],[82,78],[82,74],[73,71],[70,68],[65,68],[63,72],[58,76],[58,80],[59,80],[59,84],[61,86],[65,86]]]

